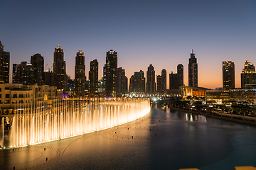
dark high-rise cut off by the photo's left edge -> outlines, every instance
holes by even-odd
[[[10,52],[4,51],[4,45],[0,41],[0,79],[9,83],[10,74]]]

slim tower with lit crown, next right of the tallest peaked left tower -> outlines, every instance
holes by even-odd
[[[75,95],[85,95],[85,55],[82,50],[75,57]]]

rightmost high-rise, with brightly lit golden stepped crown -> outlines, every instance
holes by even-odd
[[[241,89],[245,89],[245,84],[256,84],[255,66],[246,60],[245,68],[241,73]]]

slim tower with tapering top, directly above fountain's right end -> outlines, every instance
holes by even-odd
[[[149,65],[146,71],[146,93],[154,94],[156,93],[156,81],[155,81],[155,71],[152,64]]]

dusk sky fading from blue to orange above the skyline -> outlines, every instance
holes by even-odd
[[[63,49],[67,74],[75,78],[76,52],[85,53],[103,74],[106,52],[117,51],[118,67],[129,79],[153,64],[176,73],[193,49],[198,61],[198,86],[222,87],[222,62],[235,63],[235,87],[245,61],[256,64],[256,1],[1,1],[0,41],[12,64],[30,62],[40,53],[45,69],[53,69],[53,52]],[[11,75],[11,74],[10,74]],[[11,78],[10,78],[11,79]]]

